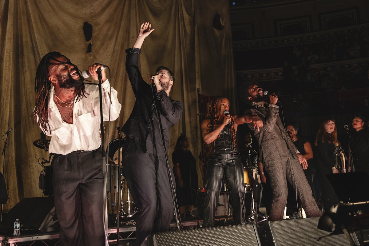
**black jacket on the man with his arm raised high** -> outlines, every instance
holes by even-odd
[[[152,145],[160,143],[157,138],[160,138],[158,127],[158,117],[154,108],[154,99],[152,96],[152,86],[147,84],[142,79],[138,69],[138,58],[141,49],[129,48],[126,49],[127,59],[125,68],[130,79],[133,92],[136,97],[134,107],[130,118],[125,122],[122,131],[126,136],[134,138],[139,143],[144,151],[150,149]],[[179,101],[172,100],[165,91],[160,91],[155,95],[155,102],[158,107],[158,112],[161,118],[166,151],[169,146],[169,129],[178,121],[183,111],[183,104]],[[149,136],[149,142],[146,146],[146,140]]]

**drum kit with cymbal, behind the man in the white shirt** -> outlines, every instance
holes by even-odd
[[[121,219],[130,220],[133,219],[132,217],[137,213],[137,207],[131,198],[131,194],[128,190],[127,182],[122,170],[123,143],[123,139],[120,138],[114,139],[109,143],[108,157],[110,161],[106,165],[106,192],[107,199],[110,199],[112,216],[114,216],[117,194],[119,193],[118,195],[120,196],[120,199],[118,199],[118,201],[120,201],[120,206],[117,209],[117,211],[119,212],[117,212],[117,215],[115,216],[115,218],[113,218],[115,219],[115,222],[118,221],[118,216]],[[33,145],[37,148],[48,151],[50,140],[45,139],[45,137],[41,134],[41,139],[35,140],[33,142]],[[45,166],[46,163],[51,163],[51,156],[52,154],[50,154],[49,160],[46,160],[44,158],[39,159],[42,160],[40,165],[44,167],[44,170],[40,174],[39,187],[40,189],[44,190],[43,193],[45,195],[53,195],[51,182],[52,166]]]

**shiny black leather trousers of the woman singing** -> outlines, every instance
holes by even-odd
[[[218,150],[209,157],[206,167],[206,198],[204,227],[214,226],[215,211],[219,202],[223,177],[228,181],[235,224],[244,224],[244,168],[238,154],[232,150]]]

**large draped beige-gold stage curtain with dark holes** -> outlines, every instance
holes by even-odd
[[[224,25],[221,30],[213,28],[217,13]],[[111,141],[117,138],[117,126],[124,124],[134,105],[124,50],[133,45],[140,24],[150,21],[155,31],[142,47],[142,75],[148,78],[159,65],[168,66],[175,73],[170,96],[184,103],[182,118],[170,132],[170,160],[180,133],[189,137],[193,155],[199,155],[196,88],[202,94],[225,94],[235,105],[226,0],[0,0],[0,20],[0,132],[13,128],[4,170],[10,197],[5,210],[25,197],[42,196],[38,158],[48,159],[49,153],[32,144],[41,131],[30,115],[35,106],[35,71],[49,51],[66,55],[80,70],[95,62],[110,67],[111,85],[123,105],[120,117],[110,124],[107,135]],[[89,42],[83,34],[86,21],[93,27],[91,53],[86,53]],[[3,171],[2,158],[0,167]]]

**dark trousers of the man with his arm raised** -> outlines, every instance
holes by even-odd
[[[123,155],[124,175],[138,207],[136,245],[149,245],[149,234],[168,231],[173,218],[165,157],[142,151],[139,143],[129,137],[124,142]],[[175,183],[172,169],[170,174]]]

